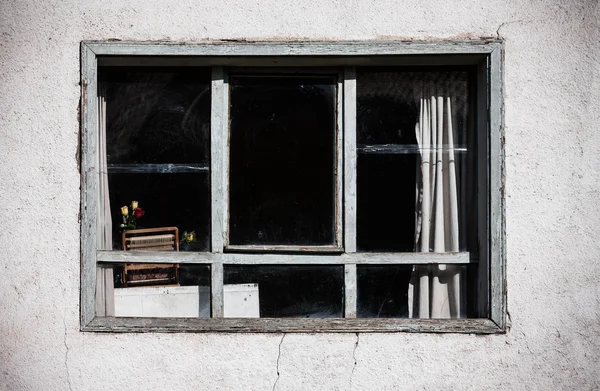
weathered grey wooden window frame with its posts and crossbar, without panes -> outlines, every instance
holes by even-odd
[[[168,61],[211,66],[211,248],[209,253],[99,251],[97,73],[99,65],[145,65]],[[502,333],[506,327],[502,43],[452,42],[207,42],[194,44],[82,42],[81,161],[81,317],[83,331],[100,332],[458,332]],[[478,202],[484,213],[480,237],[478,311],[469,319],[357,319],[356,266],[362,264],[467,264],[468,253],[356,252],[356,73],[361,65],[475,65],[477,71]],[[343,242],[342,254],[228,253],[227,244],[227,72],[235,66],[323,66],[344,69]],[[343,137],[343,139],[341,139]],[[340,150],[342,146],[340,146]],[[338,154],[341,159],[341,153]],[[340,194],[341,196],[341,194]],[[212,318],[116,318],[95,316],[96,266],[99,263],[194,263],[211,266]],[[343,265],[345,318],[223,318],[223,265]]]

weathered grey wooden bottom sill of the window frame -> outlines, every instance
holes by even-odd
[[[362,333],[419,332],[496,334],[502,329],[490,319],[203,319],[96,317],[84,331],[144,332],[259,332],[259,333]]]

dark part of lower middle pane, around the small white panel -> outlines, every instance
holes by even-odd
[[[344,315],[343,266],[225,266],[224,282],[258,284],[261,318]]]

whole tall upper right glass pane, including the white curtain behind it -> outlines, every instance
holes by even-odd
[[[471,77],[358,70],[359,251],[477,251]]]

